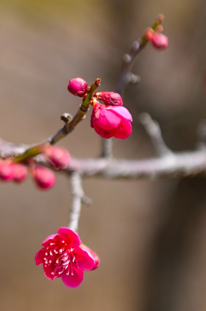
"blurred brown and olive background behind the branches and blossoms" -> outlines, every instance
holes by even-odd
[[[80,101],[68,81],[88,84],[101,77],[99,91],[113,91],[122,55],[134,39],[165,15],[169,48],[148,45],[135,63],[138,86],[128,86],[124,105],[133,132],[114,139],[114,156],[154,156],[138,123],[147,111],[174,151],[191,150],[206,117],[204,0],[1,0],[0,136],[16,143],[39,142],[75,114]],[[73,156],[96,157],[101,137],[89,115],[58,145]],[[130,181],[85,179],[93,200],[83,206],[79,233],[101,258],[95,272],[73,290],[49,281],[34,262],[42,241],[66,226],[69,181],[58,176],[53,190],[31,179],[1,183],[0,309],[4,311],[204,311],[206,309],[206,179]]]

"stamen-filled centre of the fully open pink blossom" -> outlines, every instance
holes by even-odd
[[[73,253],[73,248],[69,248],[65,241],[61,245],[50,243],[47,247],[44,258],[44,267],[50,266],[53,268],[52,275],[58,275],[66,271],[66,275],[73,274],[73,266],[76,265],[79,269],[78,262]]]

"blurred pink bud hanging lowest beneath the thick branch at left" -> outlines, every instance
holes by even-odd
[[[42,189],[50,189],[56,183],[56,176],[51,169],[45,166],[35,165],[32,170],[34,181]]]

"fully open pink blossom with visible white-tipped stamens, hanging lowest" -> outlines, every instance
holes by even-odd
[[[48,279],[62,277],[66,286],[75,288],[83,281],[84,270],[91,270],[96,264],[92,255],[80,244],[78,234],[66,227],[59,228],[57,234],[43,241],[43,248],[35,257],[36,265],[43,263]]]

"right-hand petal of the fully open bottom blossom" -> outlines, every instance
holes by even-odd
[[[95,260],[85,249],[78,247],[74,249],[74,255],[80,268],[91,270],[95,266]]]

